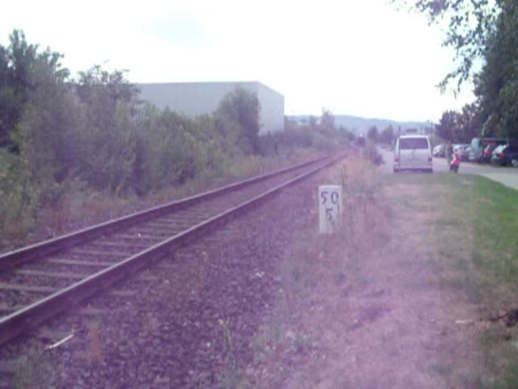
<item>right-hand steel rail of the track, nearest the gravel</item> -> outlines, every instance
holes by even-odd
[[[122,260],[107,269],[92,274],[84,280],[78,281],[56,293],[34,302],[27,307],[13,312],[8,316],[0,318],[0,344],[3,344],[16,336],[30,331],[38,324],[46,321],[50,317],[78,304],[82,300],[99,293],[110,285],[124,279],[124,277],[136,272],[144,266],[149,266],[152,262],[159,260],[189,242],[192,242],[201,234],[206,234],[210,230],[228,223],[242,213],[263,204],[271,197],[278,195],[284,188],[287,188],[300,180],[309,177],[327,166],[344,158],[341,156],[327,161],[308,172],[302,173],[292,178],[284,184],[278,185],[251,200],[228,209],[216,216],[213,216],[202,223],[199,223],[185,231],[176,234],[164,242],[158,243],[138,254]]]

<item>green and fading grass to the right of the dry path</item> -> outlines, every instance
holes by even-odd
[[[388,187],[404,185],[406,193],[397,200],[400,205],[438,211],[439,265],[450,269],[445,284],[464,290],[471,303],[487,307],[480,308],[482,317],[488,314],[486,310],[516,308],[517,190],[485,177],[461,174],[387,175],[383,180]],[[425,186],[425,199],[412,196],[413,186]],[[480,335],[484,368],[473,372],[469,387],[518,388],[518,350],[511,344],[518,333],[512,330],[511,339],[501,335],[498,325]]]

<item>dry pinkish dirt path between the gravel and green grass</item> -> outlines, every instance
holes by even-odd
[[[336,182],[340,174],[330,176]],[[444,261],[439,214],[424,190],[392,185],[370,204],[350,204],[365,209],[344,237],[312,239],[308,217],[292,248],[304,275],[298,288],[293,272],[284,276],[278,305],[290,289],[295,297],[265,324],[282,334],[249,368],[249,381],[294,389],[476,387],[477,329],[456,323],[476,317],[476,305],[451,281],[457,270]]]

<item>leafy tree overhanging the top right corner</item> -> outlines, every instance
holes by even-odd
[[[457,80],[457,90],[463,82],[473,81],[477,101],[467,105],[463,112],[445,112],[453,116],[445,126],[443,115],[439,131],[443,138],[466,142],[471,136],[502,136],[518,138],[518,4],[515,0],[394,0],[411,3],[425,13],[431,22],[449,21],[445,46],[455,50],[455,68],[442,80],[444,89],[451,80]],[[481,61],[482,60],[482,61]],[[477,62],[483,66],[474,69]],[[465,110],[471,110],[464,112]],[[462,116],[467,123],[459,122]],[[473,128],[473,124],[474,127]],[[461,134],[459,134],[461,130]],[[445,131],[445,132],[444,132]],[[445,136],[448,135],[448,136]]]

